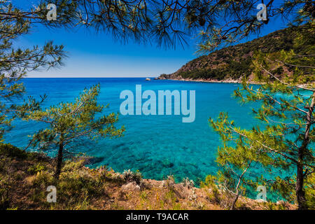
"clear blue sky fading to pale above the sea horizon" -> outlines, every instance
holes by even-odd
[[[23,0],[23,3],[31,1]],[[272,20],[259,36],[286,27],[286,22],[281,18]],[[258,35],[250,36],[242,42],[257,37]],[[84,28],[66,30],[34,27],[31,34],[18,38],[15,45],[30,48],[47,41],[64,45],[68,55],[64,59],[64,66],[48,71],[30,71],[27,77],[157,77],[162,73],[173,73],[197,57],[193,38],[188,39],[189,45],[185,48],[178,46],[176,49],[165,49],[133,41],[120,43],[107,34]]]

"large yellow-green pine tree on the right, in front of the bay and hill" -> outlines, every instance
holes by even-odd
[[[310,55],[293,50],[256,52],[253,72],[256,80],[264,84],[249,85],[244,78],[243,88],[235,91],[241,102],[260,102],[253,113],[265,123],[263,128],[242,130],[228,120],[227,113],[221,113],[218,120],[209,120],[223,140],[217,161],[225,186],[236,195],[239,188],[265,185],[286,200],[297,201],[300,209],[307,208],[309,197],[306,199],[304,193],[311,188],[305,180],[315,167],[313,25],[300,27],[298,33],[303,34],[294,40],[299,49],[302,43],[313,44],[304,50]],[[262,175],[255,174],[255,169],[260,169]],[[255,174],[255,181],[248,178],[248,172]]]

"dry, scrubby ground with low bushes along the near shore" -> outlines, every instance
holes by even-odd
[[[10,144],[0,145],[0,209],[228,209],[232,197],[208,177],[200,188],[173,176],[163,181],[143,179],[130,170],[86,165],[91,158],[64,161],[59,180],[54,179],[55,159],[44,153],[26,152]],[[56,186],[57,202],[46,201],[48,186]],[[297,209],[288,202],[262,202],[239,197],[235,209]]]

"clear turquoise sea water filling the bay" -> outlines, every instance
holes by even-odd
[[[174,174],[177,181],[186,176],[196,181],[214,174],[221,141],[209,127],[208,119],[216,118],[220,111],[227,111],[230,118],[244,128],[257,122],[250,105],[241,106],[232,99],[231,94],[238,84],[145,81],[144,78],[26,78],[23,81],[27,95],[48,95],[44,106],[73,101],[84,87],[100,83],[99,103],[110,104],[106,113],[118,112],[123,102],[119,99],[120,92],[135,92],[137,84],[142,85],[142,91],[154,90],[156,93],[158,90],[195,90],[194,123],[182,123],[182,116],[120,116],[117,126],[125,125],[124,137],[102,139],[76,149],[98,158],[93,167],[108,165],[117,172],[139,169],[147,179],[160,180]],[[6,141],[26,146],[27,135],[41,127],[41,124],[15,121],[15,129],[6,135]]]

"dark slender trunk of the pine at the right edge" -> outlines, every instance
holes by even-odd
[[[307,125],[305,127],[305,132],[304,132],[304,139],[302,142],[302,146],[298,150],[298,164],[297,164],[297,175],[296,175],[296,197],[297,197],[297,205],[298,209],[307,209],[307,204],[306,204],[306,199],[305,199],[305,193],[303,189],[303,183],[304,183],[304,153],[305,150],[307,149],[307,146],[309,144],[309,131],[311,130],[311,113],[313,113],[314,110],[314,105],[315,105],[315,92],[312,95],[311,98],[311,105],[306,107],[309,109],[307,111]]]

